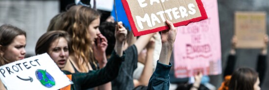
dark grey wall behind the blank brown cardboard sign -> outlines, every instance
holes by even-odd
[[[226,59],[231,47],[231,39],[234,35],[234,12],[235,11],[265,11],[269,14],[269,0],[218,0],[219,20],[222,45],[223,68],[226,66]],[[269,16],[267,15],[267,29],[269,28]],[[268,34],[268,30],[267,30]],[[260,49],[238,49],[235,68],[251,67],[256,69],[257,56]],[[222,75],[210,76],[211,83],[219,87],[222,82]],[[269,90],[268,69],[265,75],[262,90]]]

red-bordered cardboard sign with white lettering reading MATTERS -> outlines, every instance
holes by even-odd
[[[134,36],[169,29],[166,19],[177,27],[207,18],[201,0],[122,0],[122,4]]]

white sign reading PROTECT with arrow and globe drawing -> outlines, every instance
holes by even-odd
[[[7,90],[59,90],[70,81],[48,54],[41,54],[0,67]]]

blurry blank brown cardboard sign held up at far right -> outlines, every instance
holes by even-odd
[[[262,48],[266,34],[265,12],[236,12],[237,48]]]

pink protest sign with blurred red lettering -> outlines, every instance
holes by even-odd
[[[178,78],[197,72],[220,74],[221,41],[217,0],[202,0],[208,19],[178,27],[174,68]]]

